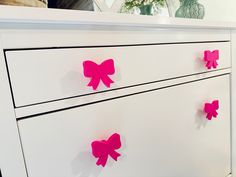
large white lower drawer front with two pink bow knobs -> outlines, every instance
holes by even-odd
[[[204,103],[219,100],[217,118]],[[29,177],[225,177],[229,76],[20,120]],[[118,161],[96,165],[91,142],[121,135]],[[42,170],[43,169],[43,170]]]

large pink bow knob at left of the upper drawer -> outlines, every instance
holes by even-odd
[[[115,73],[114,61],[113,59],[108,59],[103,61],[100,65],[94,63],[93,61],[84,61],[84,76],[91,78],[88,86],[92,86],[93,90],[96,90],[100,80],[105,86],[110,87],[113,80],[110,79],[108,75],[113,75]]]

